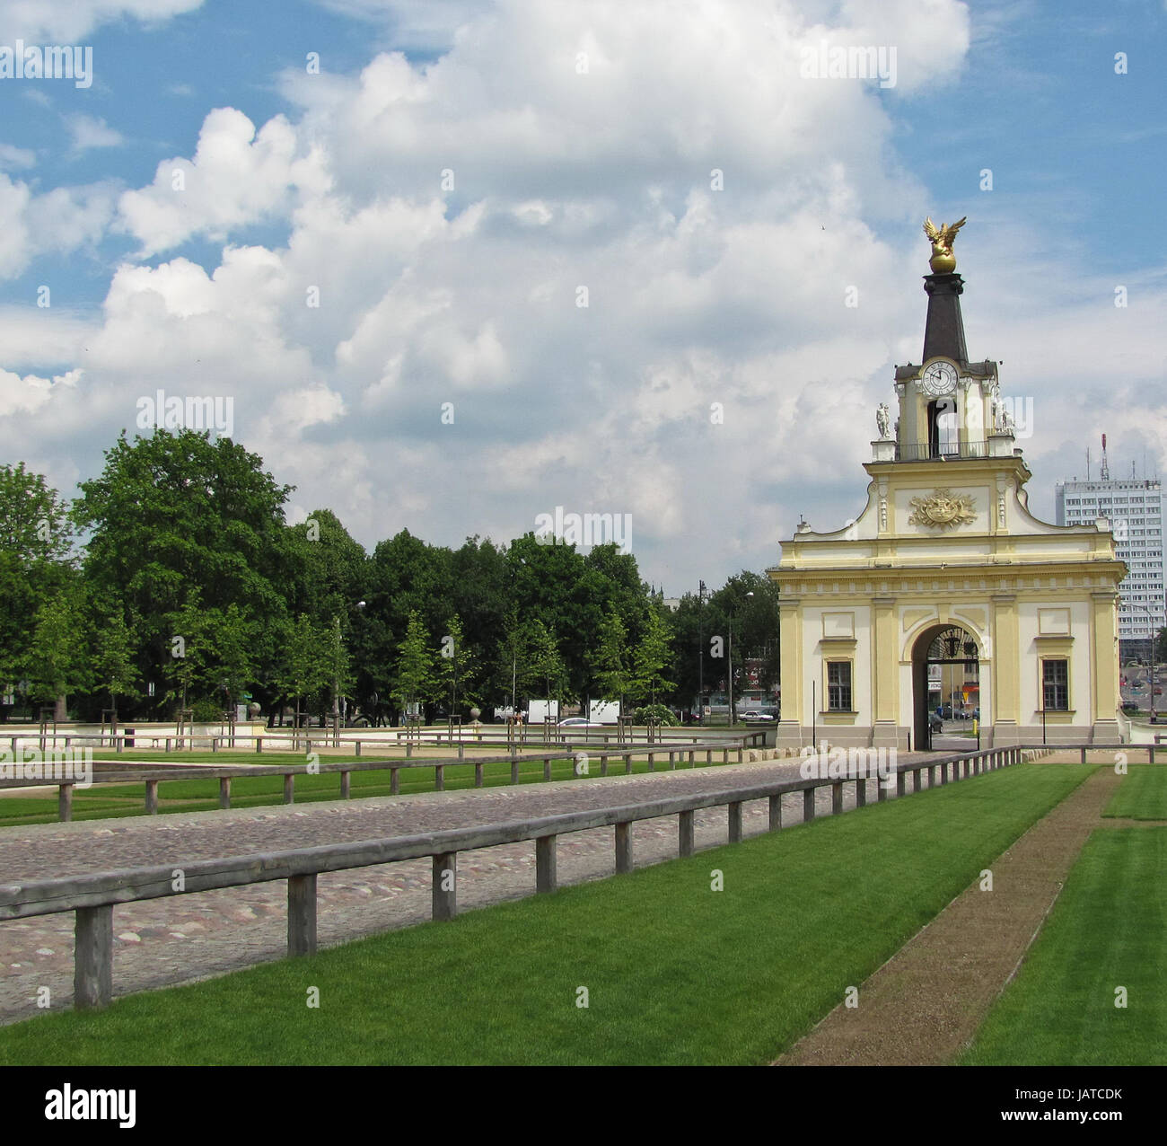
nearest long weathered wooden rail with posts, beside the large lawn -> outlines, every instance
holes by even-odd
[[[432,857],[432,913],[435,920],[450,920],[457,914],[457,855],[482,847],[497,847],[524,840],[536,841],[536,890],[553,892],[557,887],[555,840],[569,832],[596,827],[615,827],[615,868],[617,873],[633,868],[631,825],[662,816],[678,818],[678,853],[692,854],[693,813],[700,809],[728,806],[728,837],[741,839],[741,809],[747,801],[767,799],[769,826],[782,826],[782,797],[802,791],[803,819],[815,818],[815,794],[819,788],[832,789],[832,811],[843,809],[845,783],[855,783],[866,794],[868,781],[879,781],[880,799],[894,775],[897,795],[904,794],[903,780],[929,773],[929,787],[963,780],[984,771],[1005,768],[1022,760],[1021,747],[994,748],[978,753],[945,756],[941,760],[914,761],[888,769],[883,776],[862,771],[845,776],[791,777],[766,784],[671,796],[617,808],[593,809],[544,816],[515,823],[488,824],[448,831],[400,836],[349,844],[327,844],[291,851],[193,860],[186,865],[167,864],[90,875],[32,880],[0,885],[0,920],[20,920],[61,911],[76,914],[76,952],[74,969],[74,1005],[78,1008],[105,1006],[113,984],[113,906],[170,895],[243,887],[252,883],[287,880],[288,953],[310,955],[316,949],[316,876],[322,872],[340,872],[376,864]]]

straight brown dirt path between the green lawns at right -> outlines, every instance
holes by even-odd
[[[984,1021],[1041,928],[1121,776],[1099,769],[859,985],[775,1065],[939,1065]]]

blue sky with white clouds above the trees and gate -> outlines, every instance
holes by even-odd
[[[612,513],[696,592],[858,516],[967,216],[1051,519],[1102,433],[1167,464],[1165,57],[1167,0],[0,0],[0,461],[218,398],[292,522]]]

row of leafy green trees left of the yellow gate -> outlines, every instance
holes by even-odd
[[[672,612],[615,545],[533,533],[428,545],[403,530],[366,553],[329,510],[289,526],[263,460],[229,439],[123,434],[71,503],[0,467],[0,685],[8,706],[96,719],[208,718],[238,703],[375,719],[586,697],[687,707],[712,638],[777,673],[773,584],[741,573]],[[727,651],[727,650],[726,650]]]

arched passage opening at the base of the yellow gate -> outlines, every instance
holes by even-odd
[[[980,711],[980,654],[977,638],[959,624],[934,624],[916,637],[911,650],[911,696],[921,750],[932,747],[941,727],[971,721]]]

